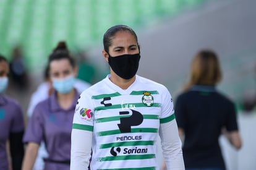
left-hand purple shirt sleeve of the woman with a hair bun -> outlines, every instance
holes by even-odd
[[[27,129],[23,136],[23,142],[36,142],[40,143],[43,140],[43,117],[38,104],[36,105],[32,117],[30,117]]]

